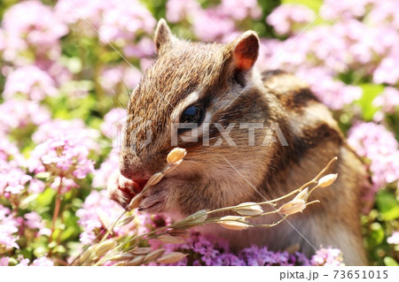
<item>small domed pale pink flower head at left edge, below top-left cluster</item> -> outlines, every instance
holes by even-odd
[[[47,95],[56,95],[54,81],[35,65],[28,65],[11,72],[4,87],[4,98],[22,94],[31,100],[41,101]]]

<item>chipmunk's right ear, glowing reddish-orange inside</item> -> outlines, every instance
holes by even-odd
[[[254,31],[248,30],[231,42],[230,47],[232,48],[232,64],[235,69],[241,72],[249,71],[258,58],[258,35]]]

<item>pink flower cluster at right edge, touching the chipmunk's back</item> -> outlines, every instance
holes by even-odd
[[[348,143],[370,160],[374,189],[399,180],[399,149],[394,133],[385,126],[359,123],[348,133]]]

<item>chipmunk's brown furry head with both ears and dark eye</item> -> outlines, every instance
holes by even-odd
[[[121,174],[145,183],[166,165],[168,152],[177,146],[187,149],[184,163],[191,167],[182,164],[179,174],[194,177],[206,164],[226,165],[220,152],[231,157],[236,149],[226,141],[215,146],[221,135],[217,126],[245,120],[245,103],[254,103],[246,94],[253,88],[248,86],[258,57],[257,34],[247,31],[227,44],[187,42],[160,19],[154,42],[158,57],[129,101]],[[241,131],[247,134],[247,129]],[[239,146],[241,141],[234,142]],[[247,140],[241,143],[247,146]]]

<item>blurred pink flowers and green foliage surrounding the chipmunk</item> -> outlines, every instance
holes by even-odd
[[[118,167],[115,136],[155,57],[160,18],[196,41],[229,42],[253,29],[261,70],[309,82],[370,171],[361,219],[370,261],[398,265],[398,9],[399,0],[2,0],[0,265],[67,265],[120,215],[106,195]],[[168,224],[132,213],[110,236]],[[164,248],[188,254],[179,265],[345,263],[334,246],[312,257],[266,247],[232,253],[199,233]]]

